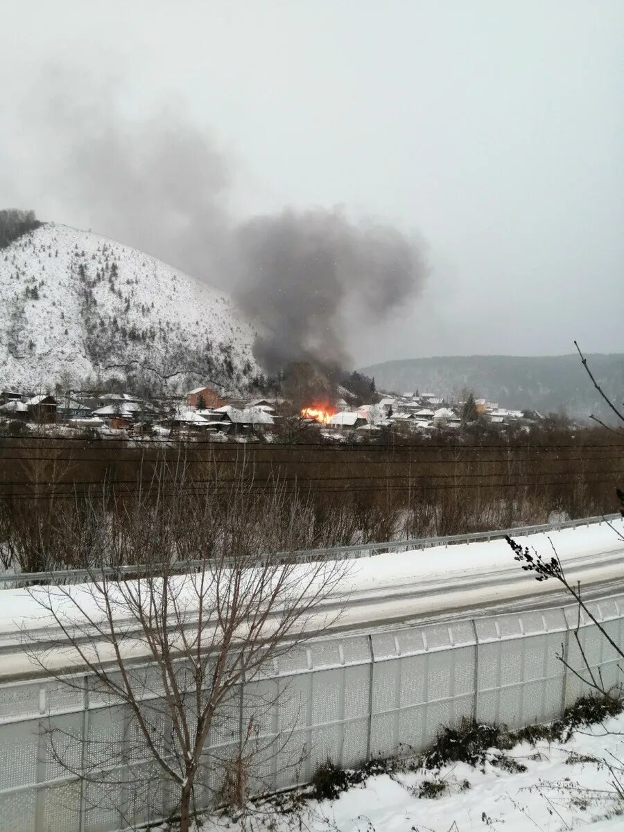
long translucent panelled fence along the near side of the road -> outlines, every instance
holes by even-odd
[[[593,602],[589,612],[579,617],[570,606],[325,637],[278,656],[220,708],[197,803],[226,799],[241,782],[256,794],[309,782],[328,759],[354,767],[420,752],[441,726],[464,719],[510,728],[552,721],[594,690],[592,674],[616,690],[624,682],[617,652],[624,596]],[[156,733],[166,738],[158,674],[150,666],[132,673]],[[51,727],[66,763],[102,767],[108,780],[81,783],[60,765]],[[164,752],[176,751],[174,740],[162,741]],[[85,676],[71,686],[0,686],[0,760],[0,830],[113,832],[165,817],[179,797],[150,759],[131,712]]]

